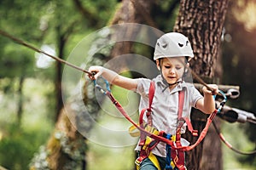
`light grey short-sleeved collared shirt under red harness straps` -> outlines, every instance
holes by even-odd
[[[202,95],[192,83],[179,82],[172,91],[166,88],[162,77],[159,75],[153,79],[155,85],[154,99],[152,103],[153,127],[159,131],[175,134],[177,128],[177,107],[178,107],[178,91],[184,90],[183,117],[190,117],[191,107],[195,107],[198,99],[202,99]],[[146,78],[138,79],[137,94],[141,95],[139,111],[148,108],[148,90],[151,80]],[[166,88],[166,90],[164,90]],[[164,91],[163,91],[164,90]],[[148,122],[144,115],[144,122]],[[182,133],[185,132],[186,124],[184,123]],[[137,146],[136,150],[140,150]],[[166,156],[166,144],[160,142],[152,152],[157,156]]]

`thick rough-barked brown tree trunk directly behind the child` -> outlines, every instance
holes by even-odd
[[[216,69],[227,6],[228,0],[182,0],[180,3],[174,31],[183,32],[185,36],[189,37],[195,53],[195,59],[190,61],[191,68],[197,75],[207,79],[212,79],[215,76],[214,70]],[[207,116],[199,111],[192,111],[191,119],[194,127],[201,132],[206,125]],[[192,143],[196,140],[190,133],[186,133],[185,138]],[[194,150],[187,152],[186,164],[189,170],[223,168],[219,139],[212,133],[208,133],[207,138],[210,138],[209,144],[201,143]],[[203,148],[207,152],[203,152]],[[201,161],[202,154],[204,154],[204,161]]]

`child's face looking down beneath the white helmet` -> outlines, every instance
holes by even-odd
[[[156,60],[156,65],[162,71],[166,82],[172,84],[183,77],[185,66],[189,64],[185,63],[185,57],[169,57]]]

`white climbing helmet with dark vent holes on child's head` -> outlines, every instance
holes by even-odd
[[[170,32],[160,37],[154,48],[154,60],[166,57],[194,57],[188,37]]]

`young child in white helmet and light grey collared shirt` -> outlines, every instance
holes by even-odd
[[[215,110],[212,94],[218,93],[217,85],[209,85],[213,92],[206,87],[202,88],[203,97],[191,83],[183,81],[183,75],[189,67],[188,61],[193,57],[194,54],[189,40],[183,34],[177,32],[166,33],[156,42],[154,60],[160,70],[160,75],[153,79],[155,90],[152,104],[154,112],[152,120],[154,128],[159,131],[165,131],[170,134],[176,133],[178,92],[181,90],[184,91],[183,117],[190,116],[191,107],[195,107],[206,114],[210,114]],[[137,94],[140,94],[140,111],[148,107],[148,91],[151,80],[122,77],[102,66],[91,66],[89,71],[96,72],[94,77],[90,77],[91,79],[102,76],[114,85],[134,90]],[[143,117],[143,121],[147,122],[146,116]],[[185,132],[185,126],[184,124],[182,133]],[[183,139],[182,143],[184,141]],[[141,150],[141,147],[137,145],[136,150]],[[156,156],[160,168],[164,169],[166,166],[166,144],[160,142],[151,152]],[[139,168],[142,170],[158,169],[148,157],[140,162]]]

